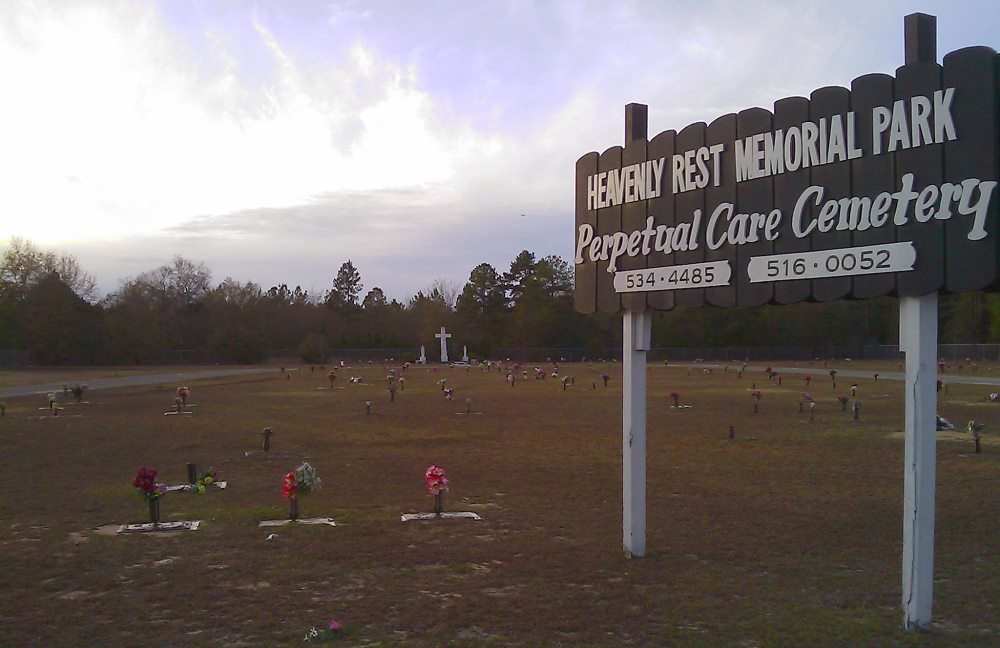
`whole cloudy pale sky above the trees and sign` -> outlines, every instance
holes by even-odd
[[[350,259],[405,302],[573,254],[574,165],[903,62],[1000,49],[1000,2],[4,0],[0,251],[100,291],[169,263],[321,295]]]

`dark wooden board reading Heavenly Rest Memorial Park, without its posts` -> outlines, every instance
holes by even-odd
[[[1000,288],[998,71],[969,47],[587,153],[576,309]]]

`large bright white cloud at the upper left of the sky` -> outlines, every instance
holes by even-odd
[[[41,244],[122,238],[196,216],[308,204],[336,191],[446,185],[496,148],[435,122],[414,70],[363,43],[301,69],[261,22],[263,88],[227,39],[198,65],[149,10],[16,13],[0,41],[0,173],[10,234]],[[231,39],[229,39],[231,40]],[[256,71],[255,71],[256,72]]]

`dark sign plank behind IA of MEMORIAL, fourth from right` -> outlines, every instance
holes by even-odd
[[[843,119],[851,109],[850,91],[841,86],[827,86],[814,90],[809,98],[809,119],[820,123],[820,119],[826,119],[829,123],[834,115],[839,115]],[[846,123],[844,124],[846,131]],[[827,138],[820,136],[820,146],[826,143]],[[821,154],[822,155],[822,154]],[[824,164],[810,168],[809,176],[814,185],[824,188],[823,203],[829,200],[845,198],[851,195],[851,163],[846,159],[831,164]],[[813,208],[813,216],[819,214],[820,207]],[[818,228],[813,230],[810,245],[813,249],[836,249],[851,246],[850,231],[838,231],[836,228],[828,232],[818,234]],[[822,247],[820,247],[822,246]],[[812,296],[816,301],[832,301],[842,299],[851,293],[850,277],[828,277],[826,279],[814,279],[812,286]]]

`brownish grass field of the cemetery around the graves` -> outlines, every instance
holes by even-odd
[[[378,365],[340,369],[332,389],[325,370],[275,368],[189,383],[177,415],[164,412],[178,384],[60,397],[58,416],[41,396],[8,398],[0,645],[297,645],[331,619],[362,646],[1000,644],[996,388],[946,378],[939,393],[959,432],[937,446],[935,623],[909,634],[902,383],[834,389],[817,364],[808,387],[779,386],[763,368],[650,365],[641,559],[622,552],[618,364],[518,372],[513,387],[496,368],[413,366],[395,402]],[[852,383],[857,421],[836,400]],[[970,419],[986,424],[981,454]],[[254,454],[265,427],[270,451]],[[301,517],[337,526],[259,528],[287,517],[282,478],[303,460],[323,485]],[[181,484],[188,462],[228,482],[161,499],[164,521],[200,528],[117,535],[148,519],[136,471]],[[481,520],[400,521],[432,510],[430,464],[451,483],[445,511]]]

